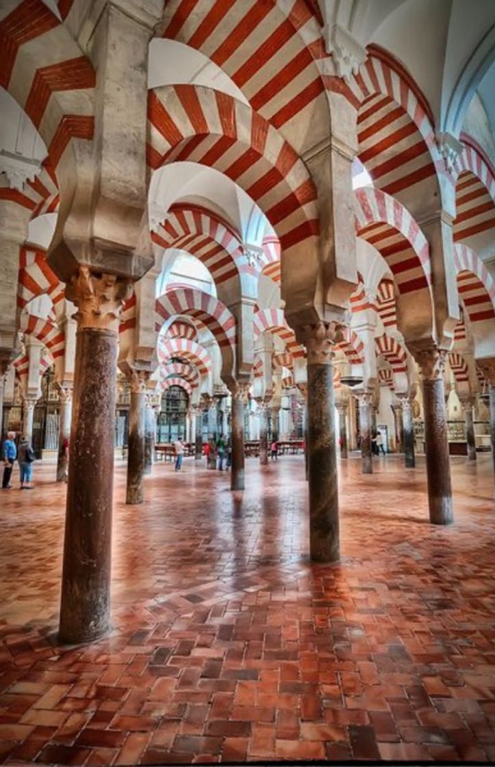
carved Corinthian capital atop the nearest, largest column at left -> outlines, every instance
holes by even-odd
[[[119,330],[119,315],[123,304],[133,293],[129,278],[92,272],[80,266],[67,283],[65,295],[77,307],[74,318],[78,328]]]

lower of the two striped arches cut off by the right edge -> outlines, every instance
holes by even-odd
[[[495,282],[476,252],[454,245],[457,291],[471,322],[495,319]]]

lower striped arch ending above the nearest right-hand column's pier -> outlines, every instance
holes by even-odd
[[[401,295],[428,291],[431,262],[428,241],[415,219],[379,189],[356,189],[356,234],[385,258]]]

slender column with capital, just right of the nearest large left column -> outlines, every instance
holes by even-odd
[[[133,370],[130,377],[129,433],[127,436],[126,503],[144,500],[144,433],[146,420],[146,374]]]

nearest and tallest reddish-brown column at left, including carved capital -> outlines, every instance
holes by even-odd
[[[119,314],[129,281],[80,266],[66,286],[77,306],[76,367],[60,616],[60,640],[107,633]]]

